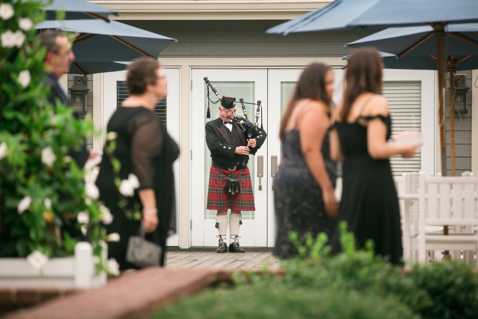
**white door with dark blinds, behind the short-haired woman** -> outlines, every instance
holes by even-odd
[[[168,134],[179,143],[180,121],[179,121],[179,68],[164,68],[164,74],[168,79],[168,94],[166,99],[161,104],[161,109],[157,111],[158,115],[165,119]],[[106,134],[106,126],[111,115],[118,107],[118,100],[124,98],[127,92],[125,91],[124,81],[126,80],[126,71],[108,72],[102,75],[102,143],[104,143],[104,137]],[[179,163],[181,160],[181,154],[179,159],[174,162],[174,179],[176,189],[176,227],[177,232],[174,235],[169,236],[167,240],[167,246],[179,246],[179,212],[180,212],[180,200],[179,200]]]

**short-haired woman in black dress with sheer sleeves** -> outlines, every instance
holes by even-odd
[[[178,145],[153,112],[167,93],[167,81],[158,61],[133,60],[128,66],[126,85],[131,95],[107,126],[108,136],[116,135],[116,148],[113,156],[104,154],[96,182],[100,200],[114,216],[106,230],[120,235],[119,242],[108,243],[108,256],[118,261],[120,269],[137,268],[126,262],[125,256],[128,239],[137,234],[140,223],[148,233],[146,238],[162,246],[160,265],[164,265],[166,238],[176,231],[173,162],[179,156]],[[106,142],[105,148],[110,143],[112,140]],[[118,173],[114,170],[115,158],[120,163]],[[115,185],[117,177],[122,181],[119,188]],[[127,201],[125,208],[119,204],[123,199]],[[138,209],[140,221],[125,214]]]

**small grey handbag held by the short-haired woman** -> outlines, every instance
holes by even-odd
[[[144,238],[142,225],[139,226],[138,232],[139,236],[129,237],[126,261],[140,268],[159,266],[159,259],[162,253],[161,246]]]

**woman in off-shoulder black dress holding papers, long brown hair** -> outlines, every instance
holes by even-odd
[[[400,212],[389,158],[411,157],[419,144],[398,147],[387,142],[391,122],[387,100],[380,95],[382,67],[375,49],[359,50],[348,60],[330,146],[332,159],[343,161],[339,220],[347,222],[359,248],[371,239],[377,255],[400,264]],[[332,250],[340,251],[338,233]]]

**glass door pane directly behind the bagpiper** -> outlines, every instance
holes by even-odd
[[[236,115],[242,116],[242,106],[239,103],[239,98],[243,98],[244,102],[248,103],[256,103],[254,101],[254,82],[212,82],[212,85],[218,90],[219,95],[221,96],[226,96],[226,97],[235,97],[236,98]],[[211,111],[211,118],[208,119],[206,118],[206,111],[207,111],[207,105],[208,105],[208,99],[207,99],[207,89],[204,87],[204,94],[205,94],[205,100],[204,100],[204,124],[208,121],[217,119],[219,117],[219,102],[217,104],[212,104],[209,102],[209,109]],[[214,92],[209,88],[209,98],[211,101],[217,101],[218,97]],[[247,118],[251,122],[255,122],[255,115],[256,115],[256,107],[255,105],[252,104],[245,104],[246,110],[247,110]],[[259,119],[259,125],[260,125],[260,119]],[[211,152],[207,148],[207,144],[204,141],[204,149],[206,150],[204,152],[205,158],[204,158],[204,173],[205,173],[205,182],[206,185],[204,185],[204,203],[207,203],[207,189],[209,185],[209,170],[211,169]],[[254,155],[249,155],[249,163],[247,167],[249,168],[251,172],[251,180],[252,180],[252,187],[254,188],[254,176],[255,176],[255,156]],[[207,206],[207,205],[204,205]],[[216,218],[216,211],[211,211],[206,209],[204,213],[204,219],[215,219]],[[230,213],[230,211],[228,212]],[[242,212],[242,219],[254,219],[254,212]]]

